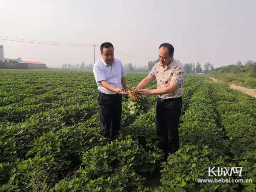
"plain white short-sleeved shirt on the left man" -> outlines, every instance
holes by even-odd
[[[94,77],[98,86],[98,90],[106,94],[116,94],[116,92],[110,91],[100,84],[100,81],[106,80],[106,82],[115,88],[122,90],[121,79],[126,76],[123,65],[119,59],[114,59],[112,66],[106,64],[103,58],[98,60],[93,66]]]

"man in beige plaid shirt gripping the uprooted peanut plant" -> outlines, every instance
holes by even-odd
[[[179,148],[178,124],[182,107],[184,66],[173,58],[174,47],[163,43],[159,47],[159,61],[139,84],[142,95],[156,94],[156,130],[160,148],[167,158],[168,152],[175,153]],[[143,89],[156,78],[157,89]]]

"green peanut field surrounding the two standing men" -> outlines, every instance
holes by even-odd
[[[128,73],[137,86],[146,73]],[[156,80],[147,88],[156,88]],[[208,77],[185,76],[180,149],[164,160],[156,99],[146,113],[122,100],[121,130],[100,134],[92,72],[0,70],[0,191],[240,192],[256,190],[256,99]],[[160,185],[145,186],[161,168]],[[209,167],[242,167],[251,183],[199,183]]]

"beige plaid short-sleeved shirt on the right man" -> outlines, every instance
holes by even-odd
[[[157,89],[169,86],[170,82],[179,84],[173,93],[157,95],[159,98],[170,99],[182,96],[185,70],[184,66],[174,58],[166,69],[160,62],[156,63],[148,75],[156,77]]]

